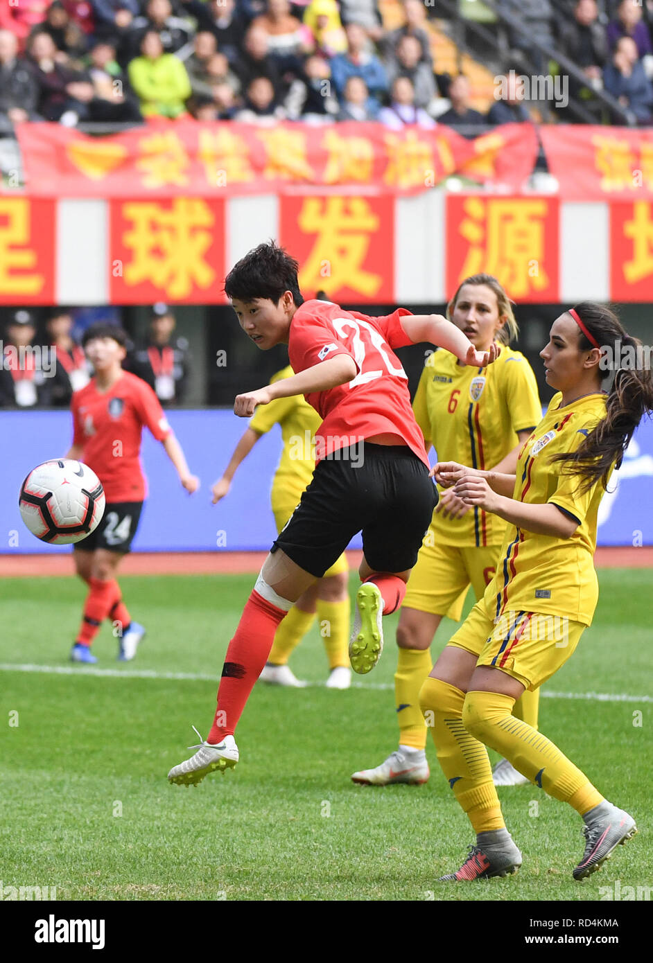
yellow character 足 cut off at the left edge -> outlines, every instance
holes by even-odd
[[[36,295],[45,280],[28,272],[37,265],[30,241],[30,201],[27,197],[0,198],[0,293]],[[20,248],[23,248],[22,250]]]

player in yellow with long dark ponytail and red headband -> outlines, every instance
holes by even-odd
[[[567,661],[591,624],[598,508],[634,430],[653,410],[653,379],[642,355],[637,359],[639,346],[609,308],[577,304],[554,322],[540,352],[558,394],[521,449],[515,475],[455,463],[433,469],[466,505],[509,523],[494,579],[420,693],[438,761],[477,834],[461,868],[442,879],[503,876],[521,865],[485,746],[582,816],[586,846],[574,879],[597,870],[637,831],[633,817],[553,742],[514,718],[512,706]],[[603,392],[611,368],[613,385]]]

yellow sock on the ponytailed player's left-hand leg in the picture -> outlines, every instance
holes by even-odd
[[[487,750],[462,724],[464,693],[440,679],[426,680],[420,703],[431,729],[437,760],[476,833],[506,826]]]

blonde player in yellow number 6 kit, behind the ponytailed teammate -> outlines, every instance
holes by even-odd
[[[510,474],[521,444],[541,420],[542,408],[531,365],[509,348],[518,333],[509,298],[491,274],[475,274],[458,287],[447,305],[447,317],[478,351],[487,351],[493,341],[503,347],[494,364],[483,369],[460,365],[449,351],[431,352],[413,402],[427,451],[432,445],[440,461]],[[419,692],[432,667],[431,641],[445,615],[460,620],[470,585],[477,600],[483,597],[506,528],[496,515],[466,506],[451,488],[440,491],[397,627],[399,748],[380,766],[354,772],[353,782],[387,786],[420,784],[429,778]],[[515,706],[515,715],[535,727],[538,695],[525,693]],[[507,760],[495,770],[502,785],[527,781]]]

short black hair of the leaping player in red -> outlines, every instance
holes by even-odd
[[[224,293],[227,298],[245,302],[254,298],[269,298],[275,304],[284,291],[290,291],[296,305],[303,304],[299,264],[275,241],[252,248],[226,275]]]

